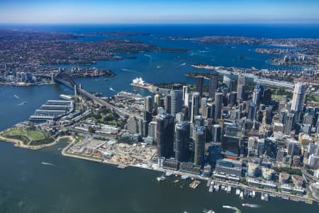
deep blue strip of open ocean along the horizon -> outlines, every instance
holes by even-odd
[[[319,24],[0,24],[0,28],[62,33],[132,31],[157,36],[230,35],[256,38],[319,38]]]

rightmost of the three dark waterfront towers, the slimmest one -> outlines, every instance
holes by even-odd
[[[206,133],[205,127],[200,126],[195,133],[195,148],[194,148],[194,164],[203,165],[205,155]]]

